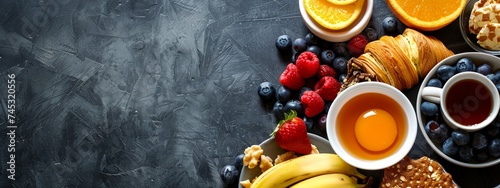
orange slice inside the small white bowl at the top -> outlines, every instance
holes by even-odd
[[[346,5],[336,5],[328,0],[303,0],[307,14],[319,25],[341,30],[351,25],[361,14],[365,0]]]

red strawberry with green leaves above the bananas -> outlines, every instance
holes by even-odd
[[[285,119],[281,120],[271,136],[281,148],[300,154],[310,154],[311,141],[307,136],[307,128],[304,120],[297,117],[297,112],[285,113]]]

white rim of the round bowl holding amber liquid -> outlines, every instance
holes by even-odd
[[[389,96],[393,100],[397,101],[401,106],[404,114],[406,116],[406,135],[402,138],[403,141],[399,148],[396,148],[393,154],[381,158],[381,159],[362,159],[356,156],[353,156],[349,153],[344,146],[341,144],[337,134],[337,116],[342,109],[342,107],[350,101],[350,99],[359,96],[361,94],[366,93],[379,93],[386,96]],[[364,106],[360,106],[359,108],[365,108]],[[366,107],[368,110],[369,107]],[[380,107],[382,108],[382,107]],[[363,110],[364,109],[360,109]],[[351,116],[351,118],[358,118],[360,114]],[[345,126],[345,125],[344,125]],[[352,125],[354,127],[354,125]],[[326,133],[328,135],[328,140],[333,147],[333,150],[337,155],[339,155],[344,161],[349,163],[352,166],[355,166],[359,169],[365,170],[380,170],[387,168],[401,161],[405,156],[407,156],[408,152],[413,146],[415,142],[415,138],[417,136],[417,119],[415,116],[415,111],[413,110],[413,106],[408,98],[395,87],[382,83],[382,82],[361,82],[357,83],[346,90],[342,91],[337,98],[332,103],[330,110],[328,111],[327,116],[327,127]]]

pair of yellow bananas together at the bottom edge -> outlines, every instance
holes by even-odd
[[[358,184],[358,179],[365,184]],[[371,178],[336,154],[303,155],[266,170],[252,183],[252,188],[278,187],[368,187]]]

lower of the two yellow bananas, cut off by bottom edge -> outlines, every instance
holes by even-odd
[[[315,176],[292,185],[290,188],[362,188],[367,184],[358,184],[356,178],[345,174],[333,173]]]

